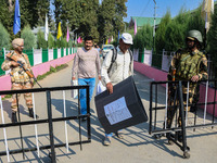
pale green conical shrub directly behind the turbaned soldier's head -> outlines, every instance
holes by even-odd
[[[24,39],[24,50],[29,50],[37,47],[36,37],[31,32],[29,25],[24,27],[21,33],[21,37]]]

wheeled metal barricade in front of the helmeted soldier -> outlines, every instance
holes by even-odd
[[[210,82],[215,84],[215,88],[208,87]],[[204,87],[204,95],[201,95],[204,102],[189,101],[191,84],[191,82],[152,82],[150,86],[149,133],[150,135],[154,135],[156,139],[159,139],[162,136],[166,136],[168,139],[168,145],[176,143],[178,147],[180,147],[180,149],[183,151],[184,159],[190,158],[190,148],[187,146],[186,130],[190,128],[195,130],[196,128],[208,126],[213,128],[215,125],[217,125],[217,118],[215,117],[216,80],[201,80],[196,84],[197,86],[201,86],[201,88]],[[162,85],[166,86],[165,95],[158,95],[158,89],[162,87]],[[171,87],[174,90],[173,93]],[[182,89],[187,90],[187,93],[183,93]],[[208,93],[208,91],[210,91],[210,93]],[[208,96],[209,100],[207,99]],[[159,99],[161,102],[158,101]],[[193,113],[189,112],[189,108],[191,106],[195,108]],[[213,109],[207,115],[208,108]],[[188,121],[190,120],[193,121],[193,123],[189,124]]]

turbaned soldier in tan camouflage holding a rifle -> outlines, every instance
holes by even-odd
[[[27,73],[24,71],[25,68],[26,71],[29,71],[33,74],[30,70],[30,63],[29,63],[28,57],[27,54],[22,52],[24,49],[24,40],[21,38],[16,38],[12,41],[12,46],[14,48],[14,51],[7,54],[7,58],[1,65],[1,68],[3,71],[11,70],[10,76],[11,76],[11,83],[12,83],[12,90],[31,89],[34,86],[34,78],[30,78],[29,75],[27,75]],[[21,61],[24,65],[24,68],[21,67],[20,63],[17,63],[16,61]],[[17,96],[20,98],[20,95]],[[31,93],[24,93],[24,98],[26,100],[26,105],[28,106],[29,116],[34,117]],[[16,102],[17,102],[16,95],[13,95],[12,104],[11,104],[12,123],[17,122],[17,117],[16,117],[17,103]]]

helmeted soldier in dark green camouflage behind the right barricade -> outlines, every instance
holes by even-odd
[[[192,104],[193,97],[196,91],[197,82],[203,79],[208,79],[207,74],[207,59],[205,54],[200,51],[202,45],[202,35],[199,30],[190,30],[186,38],[187,48],[180,49],[176,52],[171,60],[171,65],[169,68],[168,79],[173,78],[173,70],[176,70],[175,79],[176,80],[191,80],[189,85],[189,104]],[[188,86],[187,83],[182,85],[183,93],[183,104],[187,104],[187,93]],[[171,104],[173,105],[173,104]],[[184,111],[190,111],[190,106],[184,108]],[[180,114],[179,114],[180,115]],[[168,109],[167,112],[167,127],[171,127],[171,122],[175,116],[174,109]],[[178,125],[181,126],[181,117],[178,117]],[[178,138],[181,139],[180,133],[178,133]]]

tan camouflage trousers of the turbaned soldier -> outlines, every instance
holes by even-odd
[[[12,83],[12,90],[21,90],[21,89],[31,89],[33,85],[30,82],[28,83]],[[21,95],[17,95],[17,99],[20,99]],[[24,99],[26,101],[27,108],[33,108],[33,97],[30,92],[24,93]],[[17,112],[17,101],[16,101],[16,95],[12,96],[12,103],[11,103],[12,112]]]

